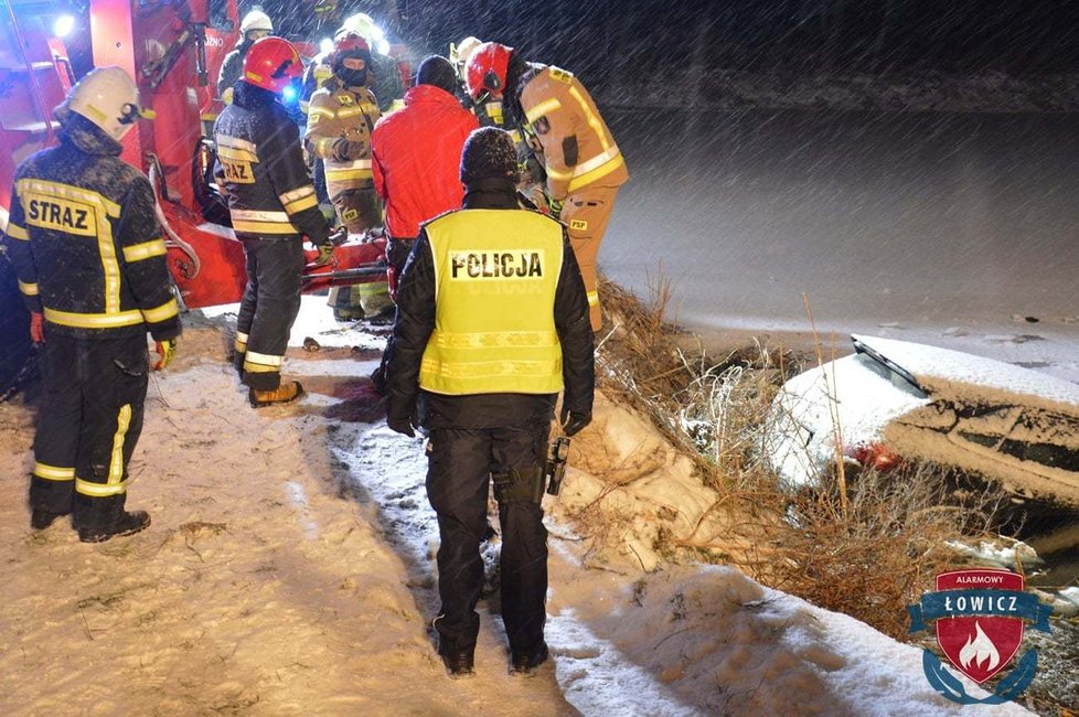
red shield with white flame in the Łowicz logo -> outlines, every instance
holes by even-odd
[[[954,598],[951,609],[958,612],[970,613],[981,609],[977,602],[980,598],[976,595],[971,597],[969,591],[992,589],[1022,593],[1023,588],[1023,576],[1008,570],[953,570],[937,576],[938,592],[968,591],[963,597]],[[944,599],[948,600],[947,596]],[[997,601],[1001,599],[1006,598],[996,598]],[[987,608],[986,610],[989,611]],[[937,644],[948,661],[977,684],[1003,670],[1023,643],[1023,620],[1019,618],[968,614],[941,618],[937,620],[936,628]]]

